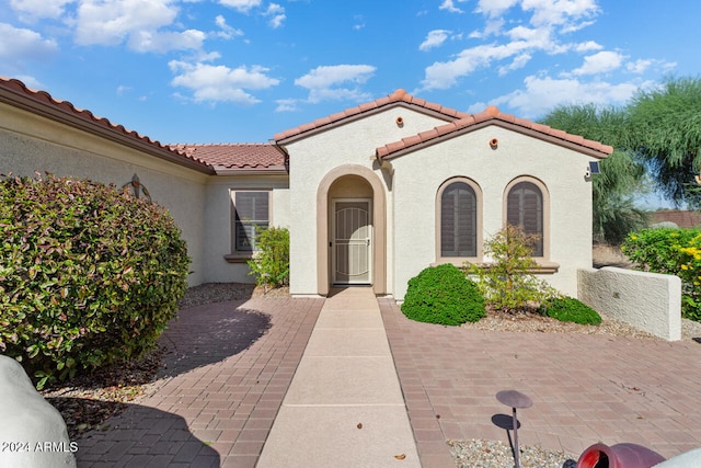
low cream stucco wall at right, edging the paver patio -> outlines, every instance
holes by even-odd
[[[681,279],[606,266],[578,272],[579,300],[668,341],[681,340]]]

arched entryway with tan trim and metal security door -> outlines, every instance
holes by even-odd
[[[371,285],[387,289],[386,196],[368,168],[348,164],[330,171],[317,194],[317,288]]]

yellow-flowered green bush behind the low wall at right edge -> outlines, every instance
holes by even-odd
[[[701,322],[701,230],[643,229],[621,250],[641,270],[679,276],[682,317]]]

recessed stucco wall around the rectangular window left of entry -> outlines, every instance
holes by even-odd
[[[289,180],[286,175],[241,175],[212,178],[207,186],[205,264],[207,283],[252,283],[245,261],[230,263],[225,259],[232,252],[234,215],[231,192],[237,190],[272,190],[269,226],[289,228]]]

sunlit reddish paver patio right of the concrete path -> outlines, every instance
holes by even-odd
[[[629,442],[666,458],[701,447],[701,344],[566,333],[483,332],[407,320],[379,299],[424,467],[453,467],[447,440],[508,442],[492,422],[516,389],[519,444],[578,455]],[[576,458],[575,458],[576,459]]]

